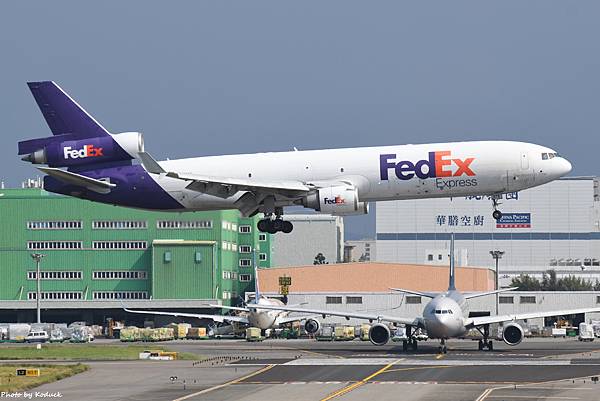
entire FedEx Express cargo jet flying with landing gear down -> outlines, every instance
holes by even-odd
[[[289,233],[286,206],[338,216],[368,202],[489,195],[497,198],[560,178],[571,163],[547,147],[474,141],[377,146],[156,161],[139,132],[113,134],[52,81],[30,82],[53,136],[19,142],[19,155],[46,173],[47,191],[164,211],[264,213],[258,229]],[[201,145],[201,142],[198,143]]]

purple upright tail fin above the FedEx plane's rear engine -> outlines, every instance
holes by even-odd
[[[52,134],[72,138],[108,136],[108,131],[53,81],[28,82]]]

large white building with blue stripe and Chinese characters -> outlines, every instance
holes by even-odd
[[[598,178],[564,179],[506,194],[498,222],[488,197],[379,202],[377,261],[447,264],[456,233],[459,266],[493,268],[491,250],[504,251],[500,284],[520,273],[600,279]]]

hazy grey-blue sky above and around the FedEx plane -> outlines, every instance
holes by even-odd
[[[17,141],[50,135],[31,80],[144,132],[157,158],[509,139],[597,174],[598,15],[594,1],[6,1],[2,178],[34,176]],[[374,233],[372,216],[346,222]]]

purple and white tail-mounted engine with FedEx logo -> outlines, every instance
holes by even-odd
[[[135,159],[139,152],[144,151],[144,138],[140,132],[73,140],[69,140],[67,134],[62,140],[59,136],[33,139],[19,143],[19,147],[28,148],[31,145],[27,142],[33,141],[43,145],[22,159],[33,164],[47,164],[50,167],[127,161]]]

